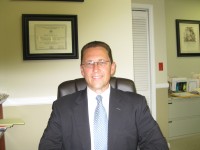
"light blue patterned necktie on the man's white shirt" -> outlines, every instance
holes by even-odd
[[[107,150],[108,119],[102,104],[102,96],[97,95],[97,107],[94,114],[94,149]]]

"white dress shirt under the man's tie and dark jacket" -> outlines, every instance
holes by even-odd
[[[90,124],[90,137],[91,137],[91,150],[94,150],[94,112],[97,106],[96,96],[101,95],[103,106],[107,113],[107,118],[109,116],[109,98],[110,98],[110,85],[109,88],[101,94],[97,94],[92,91],[89,87],[87,87],[87,96],[88,96],[88,115],[89,115],[89,124]]]

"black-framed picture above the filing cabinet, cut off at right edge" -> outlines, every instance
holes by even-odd
[[[200,56],[200,21],[176,20],[177,56]]]

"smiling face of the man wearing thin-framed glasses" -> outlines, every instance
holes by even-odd
[[[111,64],[106,49],[103,47],[86,49],[82,64],[81,74],[88,87],[99,94],[105,91],[109,86],[110,76],[114,74],[116,68],[115,63]]]

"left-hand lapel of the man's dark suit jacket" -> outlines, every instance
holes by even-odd
[[[75,125],[77,127],[80,141],[83,149],[91,149],[90,128],[88,118],[88,101],[86,90],[84,90],[78,99],[76,99],[76,106],[74,108]]]

